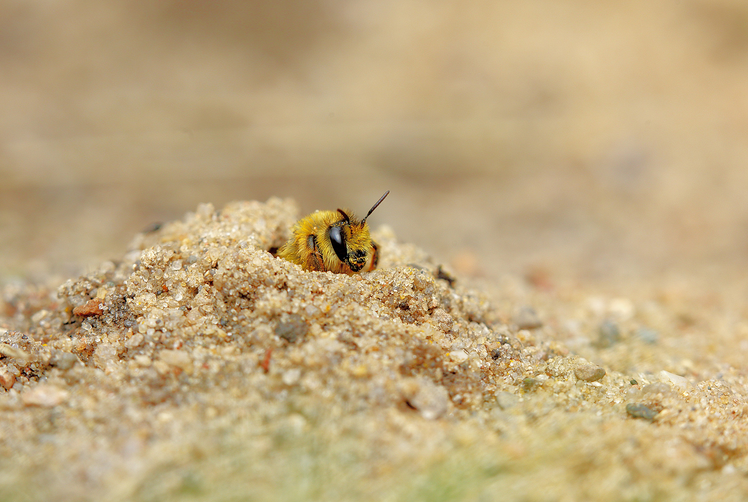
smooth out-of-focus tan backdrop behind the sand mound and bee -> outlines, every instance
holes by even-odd
[[[488,277],[741,280],[747,138],[738,0],[0,0],[4,277],[389,189],[375,226]]]

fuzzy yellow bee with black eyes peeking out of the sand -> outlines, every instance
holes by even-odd
[[[353,273],[376,268],[378,248],[369,234],[367,218],[390,190],[359,221],[351,211],[316,211],[298,220],[291,238],[278,250],[278,256],[301,265],[304,270]]]

